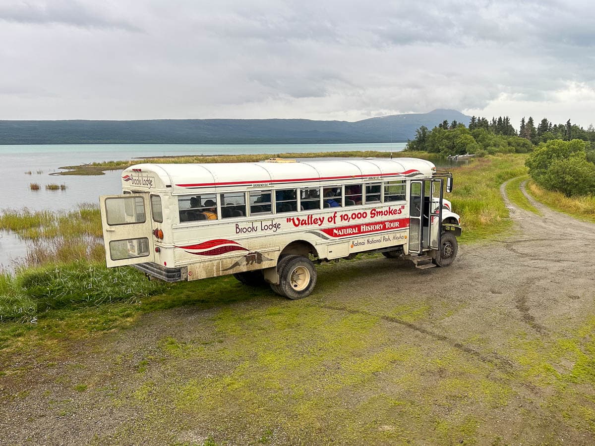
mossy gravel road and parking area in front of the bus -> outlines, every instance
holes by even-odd
[[[11,364],[0,443],[595,444],[595,225],[501,190],[512,230],[449,268],[340,262],[305,300],[155,312]]]

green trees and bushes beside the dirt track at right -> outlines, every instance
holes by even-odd
[[[441,153],[444,156],[474,153],[530,153],[526,165],[533,181],[566,196],[595,195],[595,128],[587,130],[570,120],[553,124],[543,118],[522,118],[519,131],[508,116],[471,117],[465,124],[443,121],[432,130],[419,127],[406,150]]]

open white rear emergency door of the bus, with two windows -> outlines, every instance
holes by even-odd
[[[108,267],[154,262],[148,193],[99,197]]]

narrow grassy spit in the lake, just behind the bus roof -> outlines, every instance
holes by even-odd
[[[375,150],[355,150],[346,152],[307,152],[307,153],[260,153],[255,155],[189,155],[189,156],[164,156],[147,159],[131,159],[129,161],[104,161],[93,162],[76,166],[64,166],[61,169],[68,169],[60,172],[60,175],[103,175],[104,171],[126,169],[134,164],[150,162],[156,164],[171,163],[212,163],[212,162],[258,162],[269,158],[330,158],[344,156],[349,158],[389,158],[394,156],[409,156],[412,158],[428,159],[430,161],[443,159],[440,155],[427,152],[377,152]]]

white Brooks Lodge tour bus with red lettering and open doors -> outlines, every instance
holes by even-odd
[[[443,183],[446,181],[446,187]],[[452,175],[415,158],[138,164],[100,197],[107,266],[168,282],[233,274],[300,299],[314,263],[379,251],[418,268],[456,257]]]

